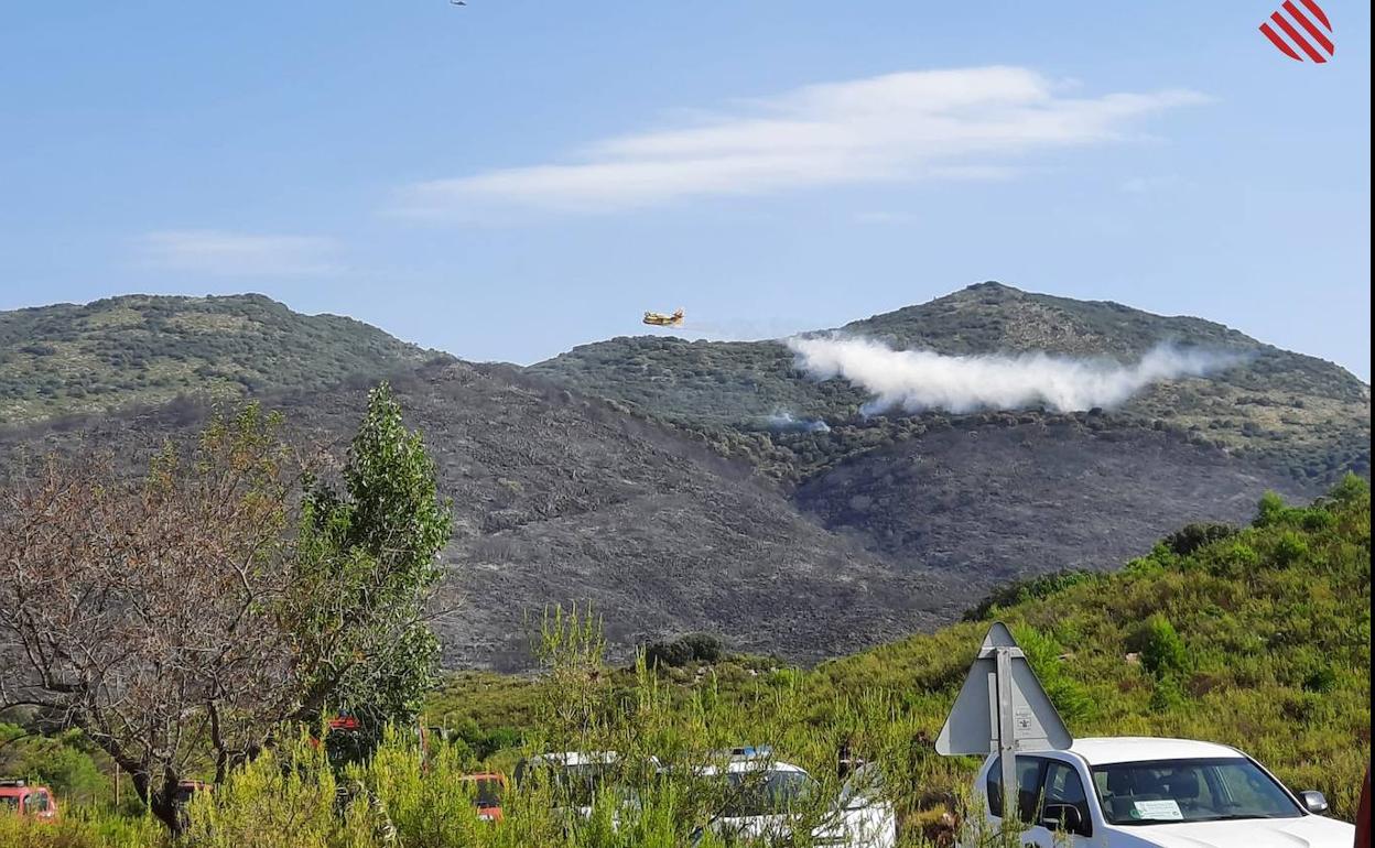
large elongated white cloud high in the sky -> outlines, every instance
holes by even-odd
[[[1023,67],[908,71],[747,100],[688,126],[610,137],[566,161],[414,183],[397,210],[638,209],[708,195],[923,179],[1005,179],[1044,150],[1128,137],[1192,91],[1071,98]]]

